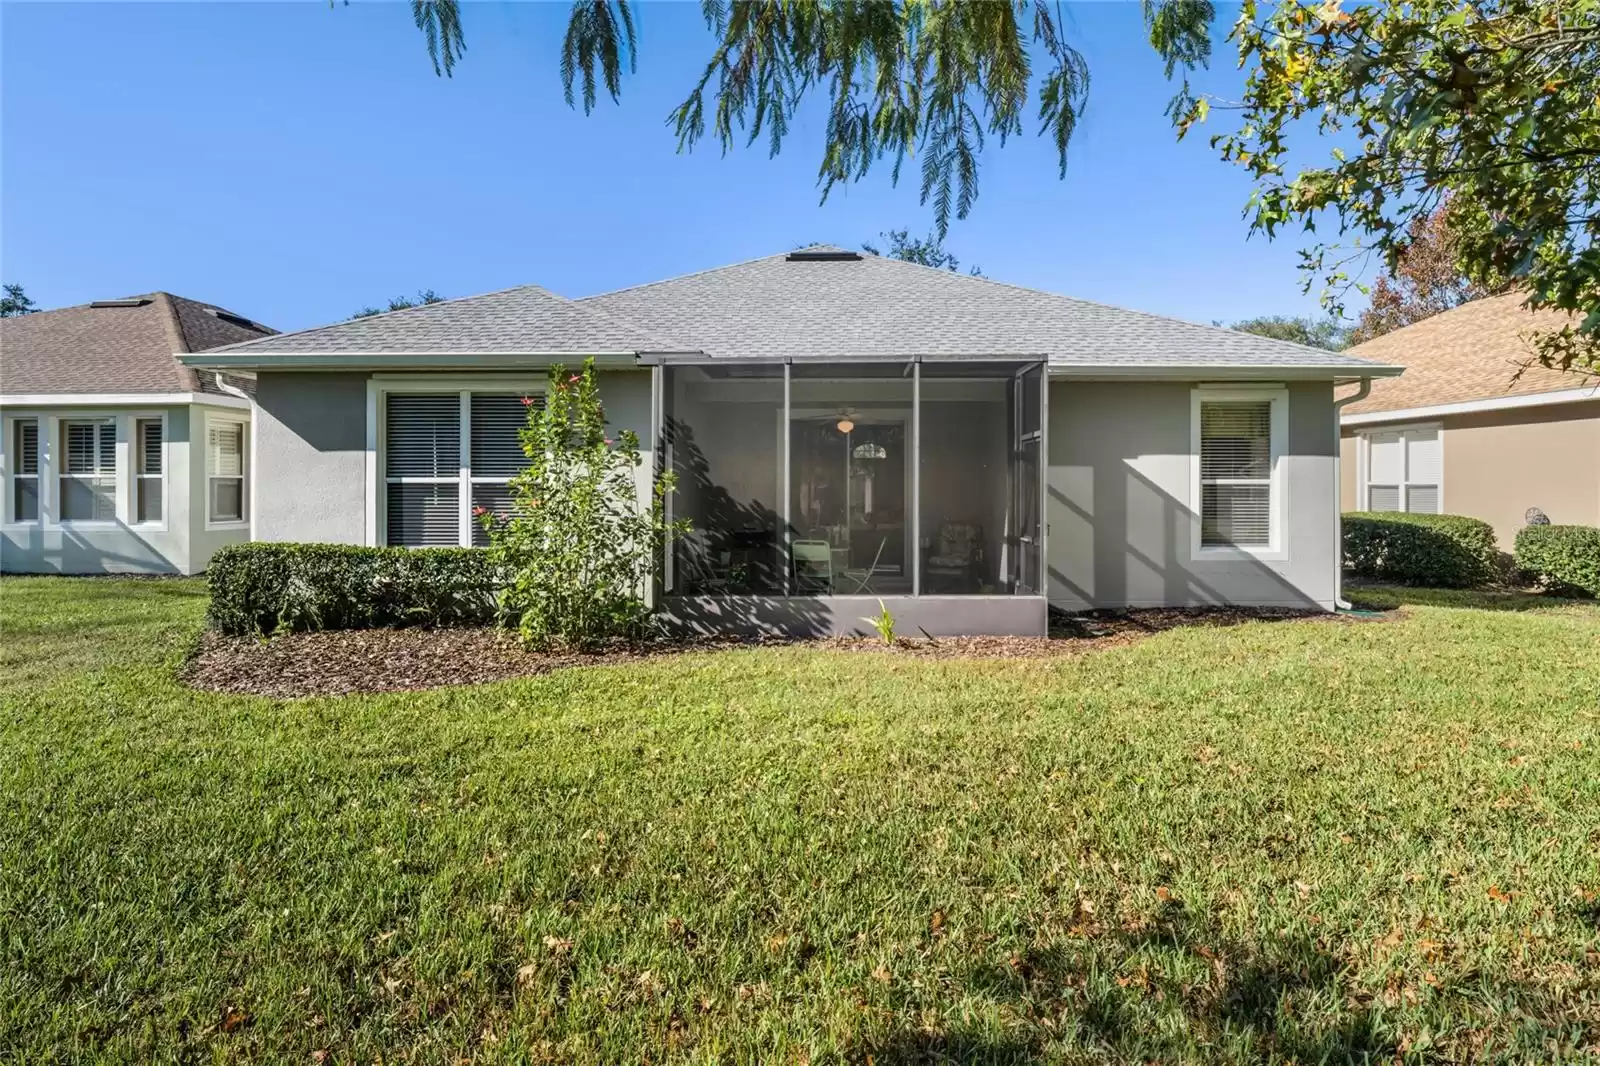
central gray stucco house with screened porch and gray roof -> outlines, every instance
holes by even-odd
[[[256,378],[254,533],[474,544],[520,397],[594,357],[694,531],[707,629],[1043,632],[1062,608],[1338,599],[1334,386],[1398,368],[808,248],[587,299],[536,287],[187,355]]]

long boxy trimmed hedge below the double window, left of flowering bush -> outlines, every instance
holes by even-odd
[[[474,547],[230,544],[211,557],[210,621],[226,634],[494,621],[499,579]]]

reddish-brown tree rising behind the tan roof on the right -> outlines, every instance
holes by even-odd
[[[1459,240],[1451,216],[1453,210],[1446,202],[1432,214],[1411,222],[1394,269],[1373,285],[1371,306],[1350,330],[1350,344],[1370,341],[1506,288],[1504,282],[1486,285],[1461,272],[1456,264]]]

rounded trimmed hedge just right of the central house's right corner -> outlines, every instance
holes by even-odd
[[[1459,514],[1344,515],[1344,565],[1363,578],[1470,589],[1501,575],[1488,522]]]

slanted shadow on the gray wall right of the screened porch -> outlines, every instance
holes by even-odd
[[[1195,514],[1184,501],[1128,463],[1118,464],[1117,477],[1098,477],[1099,472],[1086,471],[1093,477],[1093,511],[1062,490],[1054,477],[1048,482],[1050,503],[1067,512],[1067,522],[1056,522],[1050,531],[1046,563],[1053,589],[1064,591],[1088,607],[1155,602],[1171,607],[1210,603],[1320,607],[1278,570],[1248,555],[1216,562],[1190,560],[1189,536]],[[1131,507],[1131,503],[1138,506]],[[1096,515],[1106,519],[1096,520]],[[1291,523],[1290,514],[1283,515],[1283,522],[1285,527]],[[1120,549],[1107,551],[1104,544],[1107,536],[1115,538]],[[1283,536],[1290,536],[1288,528],[1283,530]],[[1152,541],[1158,544],[1154,551]],[[1059,565],[1059,560],[1067,560],[1067,567]],[[1330,559],[1326,565],[1331,581],[1333,560]],[[1226,575],[1229,587],[1221,589],[1213,584],[1206,571]],[[1085,587],[1083,575],[1091,576],[1093,586]],[[1330,599],[1331,595],[1330,587]],[[1051,595],[1053,602],[1058,599]]]

